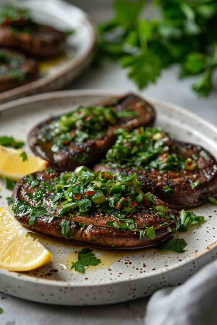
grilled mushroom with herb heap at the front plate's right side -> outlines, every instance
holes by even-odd
[[[171,209],[193,208],[217,194],[217,163],[210,152],[172,141],[160,128],[120,131],[97,170],[136,173],[143,192],[155,194]]]

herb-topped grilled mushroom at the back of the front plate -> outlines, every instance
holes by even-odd
[[[128,131],[152,125],[152,106],[133,94],[53,117],[29,133],[30,148],[59,171],[74,170],[82,164],[93,166],[114,144],[118,128]]]

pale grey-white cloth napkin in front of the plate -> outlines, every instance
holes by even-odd
[[[217,260],[183,285],[157,291],[145,325],[217,325]]]

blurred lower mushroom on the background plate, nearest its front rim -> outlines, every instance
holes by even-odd
[[[0,49],[0,92],[26,84],[38,76],[38,64],[24,55]]]

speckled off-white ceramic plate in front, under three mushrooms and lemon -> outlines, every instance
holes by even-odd
[[[0,107],[0,135],[13,135],[25,140],[34,124],[53,114],[113,96],[102,91],[62,91],[4,104]],[[156,125],[177,139],[205,146],[216,156],[216,127],[181,107],[150,101],[156,108]],[[11,192],[3,188],[1,195],[0,205],[6,206],[5,198]],[[182,283],[216,256],[216,210],[217,207],[211,204],[194,209],[196,214],[205,215],[206,221],[187,233],[179,234],[188,243],[183,254],[159,253],[154,248],[134,252],[94,250],[102,264],[88,268],[85,274],[70,270],[79,247],[33,234],[51,251],[53,261],[32,272],[0,270],[0,291],[62,305],[111,304],[150,295],[164,286]]]

